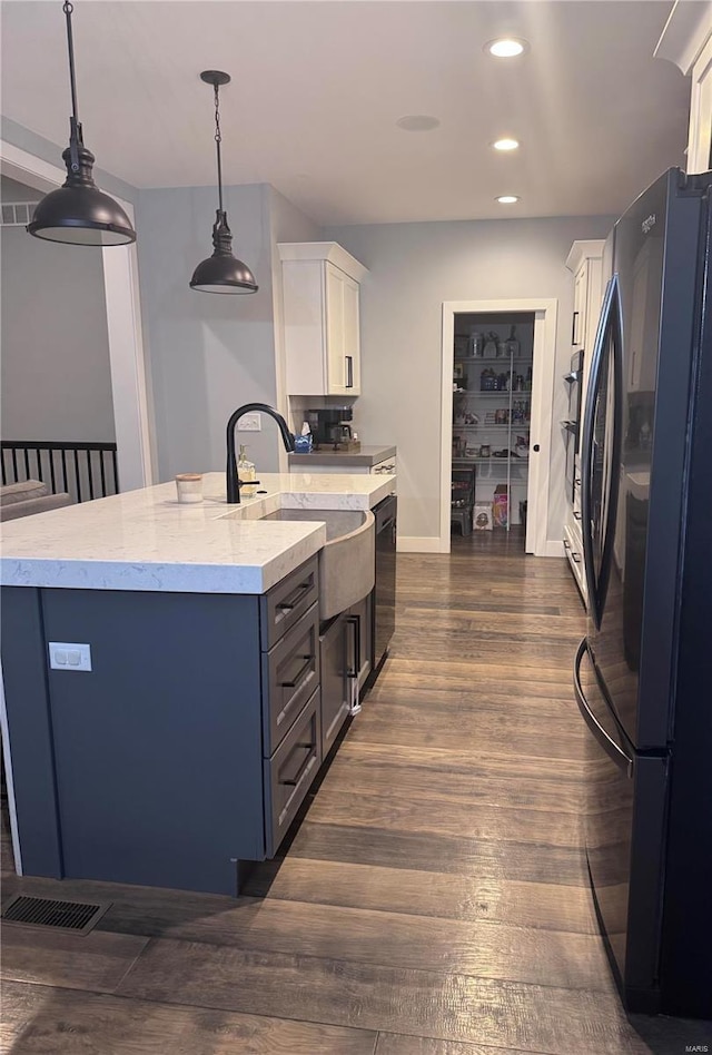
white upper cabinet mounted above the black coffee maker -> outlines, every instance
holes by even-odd
[[[279,245],[287,395],[360,395],[358,293],[367,269],[335,241]]]

